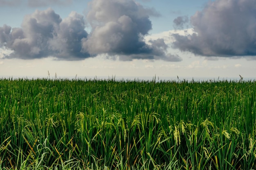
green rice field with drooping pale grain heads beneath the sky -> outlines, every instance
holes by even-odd
[[[1,79],[0,169],[256,169],[256,82]]]

